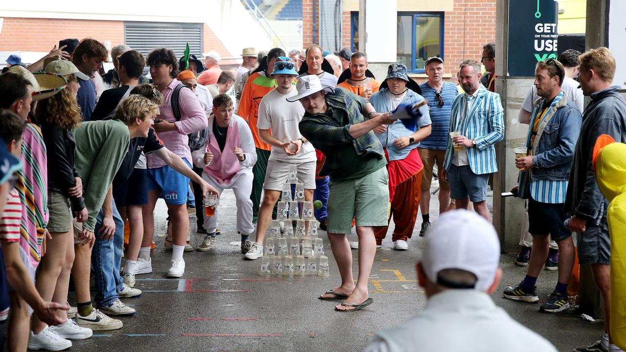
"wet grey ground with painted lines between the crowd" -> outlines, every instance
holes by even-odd
[[[431,200],[431,218],[436,218],[436,196]],[[170,251],[163,248],[165,205],[156,211],[156,249],[152,252],[154,271],[137,276],[140,298],[125,299],[137,310],[121,318],[124,327],[116,331],[95,331],[93,338],[74,341],[73,351],[361,351],[372,334],[389,328],[418,313],[426,297],[416,283],[414,264],[422,239],[418,220],[409,250],[393,251],[391,239],[383,242],[374,261],[370,295],[374,304],[358,312],[334,311],[336,301],[317,296],[339,283],[339,273],[324,238],[331,276],[300,278],[259,276],[259,261],[244,261],[235,229],[235,199],[224,192],[220,204],[222,234],[215,249],[187,252],[187,273],[182,279],[164,276]],[[195,236],[195,244],[202,237]],[[389,233],[393,231],[393,225]],[[389,236],[391,237],[391,236]],[[351,235],[356,241],[356,235]],[[236,242],[237,244],[231,244]],[[356,251],[354,270],[357,271]],[[504,276],[492,298],[513,318],[545,336],[560,351],[587,346],[600,338],[602,321],[583,321],[574,309],[560,314],[541,314],[538,304],[510,301],[501,297],[508,284],[516,284],[525,269],[515,266],[515,255],[503,255]],[[541,299],[552,292],[557,272],[543,271],[538,280]],[[72,301],[73,297],[70,297]],[[451,336],[453,338],[453,336]]]

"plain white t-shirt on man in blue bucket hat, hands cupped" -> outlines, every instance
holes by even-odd
[[[287,94],[281,94],[277,89],[267,93],[259,105],[259,120],[257,128],[272,130],[272,137],[282,142],[302,138],[298,124],[304,116],[304,108],[299,101],[290,103],[287,98],[297,95],[295,86]],[[269,160],[282,162],[303,163],[317,160],[315,148],[310,142],[304,143],[297,155],[287,155],[282,148],[272,146]]]

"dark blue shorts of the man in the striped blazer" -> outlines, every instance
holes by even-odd
[[[476,175],[469,165],[456,166],[451,163],[448,170],[450,198],[465,199],[469,197],[469,201],[473,203],[485,201],[489,175],[489,173]]]

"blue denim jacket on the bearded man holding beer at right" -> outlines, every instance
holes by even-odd
[[[536,100],[535,110],[540,111],[545,103],[544,98]],[[561,91],[546,111],[546,116],[537,128],[535,142],[530,145],[534,122],[533,119],[526,140],[526,147],[531,148],[532,155],[535,155],[531,180],[567,181],[570,178],[574,147],[582,123],[580,111],[568,100],[567,93]]]

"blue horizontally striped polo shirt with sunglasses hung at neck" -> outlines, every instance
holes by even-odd
[[[431,118],[431,134],[419,143],[420,148],[446,150],[448,143],[448,130],[450,127],[450,112],[452,111],[452,102],[458,95],[456,85],[452,82],[444,81],[441,88],[441,98],[443,98],[443,106],[439,106],[435,95],[437,91],[426,83],[419,85],[422,89],[422,96],[428,100],[428,108],[430,109]]]

